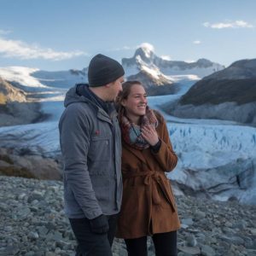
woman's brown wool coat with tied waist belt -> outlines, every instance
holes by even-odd
[[[119,212],[117,237],[131,239],[177,230],[177,207],[165,172],[177,165],[177,156],[160,113],[156,128],[160,150],[138,150],[124,141],[122,148],[123,200]]]

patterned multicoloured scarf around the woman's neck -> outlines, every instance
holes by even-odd
[[[146,114],[142,116],[141,125],[135,125],[131,123],[130,119],[125,116],[124,111],[120,114],[120,127],[122,132],[122,137],[125,143],[129,144],[133,148],[145,149],[149,147],[149,144],[143,139],[141,135],[141,128],[144,125],[154,125],[157,127],[158,121],[154,115],[152,109],[146,108]]]

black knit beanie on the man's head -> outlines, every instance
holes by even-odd
[[[102,86],[119,79],[125,74],[124,68],[105,55],[94,56],[88,67],[88,82],[90,87]]]

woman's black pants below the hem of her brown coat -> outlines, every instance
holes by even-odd
[[[177,256],[177,231],[154,234],[156,256]],[[125,239],[128,256],[147,256],[147,236]]]

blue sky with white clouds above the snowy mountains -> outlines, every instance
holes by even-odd
[[[256,58],[255,0],[0,0],[0,67],[82,69],[143,43],[173,61]]]

